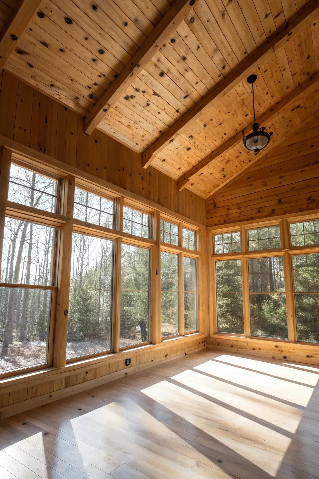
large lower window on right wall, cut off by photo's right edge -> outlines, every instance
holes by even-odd
[[[319,342],[319,253],[294,255],[292,267],[297,339]]]

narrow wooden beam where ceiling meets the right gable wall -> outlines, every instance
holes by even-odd
[[[261,158],[268,158],[272,151],[275,149],[275,148],[279,148],[281,146],[283,146],[283,144],[287,141],[287,139],[289,139],[290,137],[292,137],[299,129],[301,126],[306,126],[308,125],[309,123],[313,122],[315,119],[317,119],[319,116],[319,113],[316,112],[316,113],[313,113],[312,115],[310,115],[308,118],[306,118],[304,121],[302,121],[301,123],[298,123],[296,126],[294,126],[290,131],[288,131],[286,133],[286,135],[284,135],[283,137],[281,137],[278,141],[276,141],[275,143],[273,143],[267,150],[264,150],[264,154],[262,152],[258,153],[249,163],[247,163],[241,170],[237,171],[234,175],[232,175],[230,178],[228,178],[228,180],[226,180],[225,182],[221,183],[217,188],[214,189],[214,191],[212,193],[209,193],[207,196],[206,196],[206,200],[210,200],[211,198],[213,198],[215,196],[215,194],[217,193],[220,193],[221,190],[223,190],[226,186],[229,186],[231,183],[233,183],[234,181],[238,180],[239,178],[241,178],[245,173],[247,173],[248,170],[250,170],[253,165],[255,163],[257,163],[257,161],[260,161]]]

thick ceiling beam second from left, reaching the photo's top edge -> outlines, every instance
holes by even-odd
[[[176,0],[173,7],[166,13],[165,17],[162,18],[142,47],[137,51],[132,61],[123,68],[117,79],[113,81],[99,102],[87,114],[84,124],[85,133],[90,135],[94,128],[99,125],[99,122],[125,92],[133,79],[141,73],[163,42],[184,20],[196,1],[200,0]]]

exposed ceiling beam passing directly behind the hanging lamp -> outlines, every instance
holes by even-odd
[[[288,93],[288,95],[282,98],[280,102],[276,103],[274,106],[269,108],[269,110],[267,110],[264,114],[262,114],[259,118],[257,118],[256,121],[261,126],[264,125],[265,123],[275,118],[275,116],[278,113],[289,109],[294,103],[298,102],[301,98],[307,96],[309,93],[314,91],[318,87],[318,85],[319,85],[319,72],[317,71],[317,73],[312,75],[308,80],[304,81],[304,83],[299,85],[295,90],[290,91],[290,93]],[[177,181],[179,191],[185,188],[187,183],[191,182],[193,175],[202,171],[209,164],[211,164],[213,161],[219,158],[220,155],[230,150],[231,148],[234,148],[236,145],[238,145],[241,142],[242,142],[242,132],[239,132],[237,133],[237,135],[235,135],[234,137],[226,141],[220,148],[217,148],[209,156],[204,158],[204,160],[200,161],[191,170],[187,171],[187,173],[181,176],[179,180]],[[274,145],[275,144],[276,143],[274,143]],[[269,150],[269,148],[270,147],[267,147],[265,152]]]

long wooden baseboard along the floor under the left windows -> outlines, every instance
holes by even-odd
[[[172,359],[185,356],[186,354],[196,353],[205,348],[206,348],[206,342],[199,343],[196,346],[191,345],[187,347],[186,349],[183,349],[181,351],[177,351],[176,353],[171,353],[171,354],[169,354],[169,351],[167,348],[167,354],[165,354],[164,356],[151,359],[150,361],[146,361],[141,364],[133,365],[132,367],[127,367],[126,369],[121,369],[120,371],[110,373],[106,376],[100,376],[85,382],[80,382],[79,384],[76,384],[74,386],[58,389],[56,391],[52,391],[47,394],[42,394],[32,399],[22,400],[20,402],[5,406],[0,409],[0,419],[4,419],[6,417],[12,416],[13,414],[18,414],[23,411],[28,411],[29,409],[42,406],[43,404],[47,404],[47,403],[56,401],[58,399],[66,398],[67,396],[72,396],[73,394],[77,394],[78,392],[85,391],[86,389],[95,388],[97,386],[100,386],[101,384],[105,384],[110,381],[114,381],[115,379],[119,379],[120,377],[128,376],[130,374],[137,373],[138,371],[142,371],[143,369],[147,369],[152,366],[166,363],[167,361],[171,361]]]

